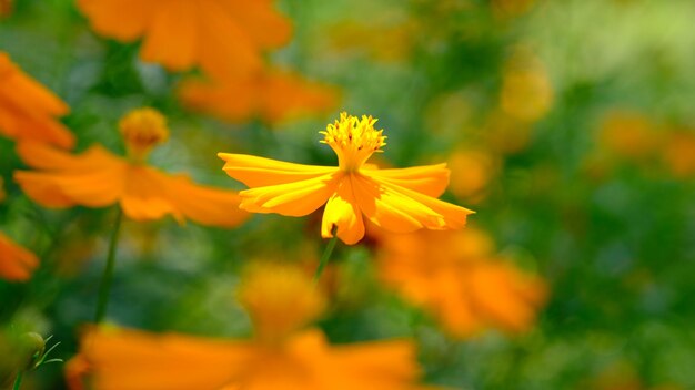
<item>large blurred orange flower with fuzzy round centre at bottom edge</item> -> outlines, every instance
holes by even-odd
[[[97,390],[421,389],[407,340],[331,346],[318,329],[288,328],[314,318],[323,304],[316,305],[322,298],[308,275],[279,267],[273,269],[280,273],[253,267],[239,296],[256,330],[278,325],[271,333],[286,331],[283,338],[256,333],[252,340],[233,340],[93,328],[83,336],[74,366],[87,362]]]

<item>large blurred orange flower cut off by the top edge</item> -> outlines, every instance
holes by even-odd
[[[262,51],[290,39],[272,0],[79,0],[92,29],[119,41],[143,38],[144,61],[171,71],[200,66],[215,79],[261,69]]]

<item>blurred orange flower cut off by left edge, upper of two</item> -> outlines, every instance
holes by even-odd
[[[72,147],[74,136],[56,120],[69,110],[0,51],[0,135]]]

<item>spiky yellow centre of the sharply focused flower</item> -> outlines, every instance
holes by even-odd
[[[328,144],[338,154],[340,170],[357,172],[373,153],[381,150],[386,143],[382,130],[375,130],[376,119],[362,115],[362,119],[341,113],[340,120],[329,124],[321,143]]]

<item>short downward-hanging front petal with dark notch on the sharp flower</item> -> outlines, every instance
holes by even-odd
[[[333,226],[338,227],[338,238],[348,245],[357,243],[364,237],[364,222],[362,212],[355,201],[352,176],[343,176],[338,183],[338,189],[331,196],[323,211],[321,236],[333,237]]]

